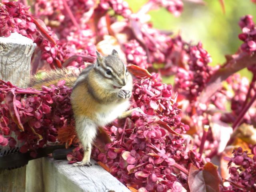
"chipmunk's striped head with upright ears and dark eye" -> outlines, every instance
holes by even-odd
[[[113,92],[118,92],[131,79],[126,65],[122,62],[116,50],[113,50],[112,54],[108,56],[101,56],[97,52],[97,61],[94,68],[98,71],[99,80],[102,80],[104,87]]]

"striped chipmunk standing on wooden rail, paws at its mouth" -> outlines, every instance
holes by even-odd
[[[57,75],[58,80],[68,79],[69,84],[74,82],[71,94],[71,104],[74,112],[76,133],[84,147],[82,162],[74,166],[90,166],[92,143],[99,126],[106,126],[116,118],[130,116],[134,110],[143,113],[140,108],[126,111],[130,107],[129,99],[132,95],[132,75],[127,71],[126,65],[118,56],[116,50],[108,56],[101,56],[97,52],[97,60],[87,66],[80,75],[71,74],[68,70],[63,76],[62,71],[50,72],[46,75],[48,84]],[[74,81],[74,79],[76,79]],[[42,82],[32,86],[38,87]],[[71,82],[71,83],[70,83]],[[44,84],[46,85],[46,84]]]

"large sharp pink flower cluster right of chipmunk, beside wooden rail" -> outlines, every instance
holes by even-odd
[[[181,111],[172,96],[172,86],[158,81],[157,75],[138,78],[132,107],[145,114],[133,112],[106,127],[112,143],[106,144],[106,152],[96,148],[92,153],[112,175],[139,191],[188,190],[188,165],[203,165],[196,148],[180,135],[189,127],[180,122]],[[72,162],[80,157],[79,148],[68,155]]]

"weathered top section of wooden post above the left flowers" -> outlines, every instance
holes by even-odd
[[[36,44],[29,38],[13,33],[0,37],[0,79],[26,88],[30,78],[30,60]]]

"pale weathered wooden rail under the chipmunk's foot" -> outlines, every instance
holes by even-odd
[[[27,192],[130,192],[114,176],[94,165],[94,160],[91,162],[90,167],[73,167],[66,160],[42,158],[42,178],[27,180]],[[36,180],[43,181],[43,189]]]

